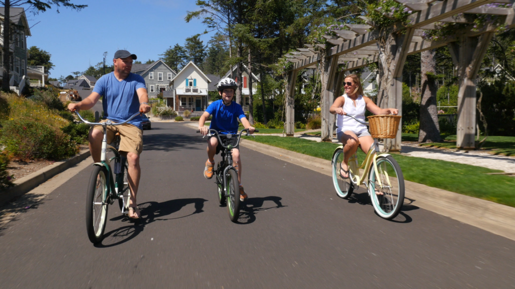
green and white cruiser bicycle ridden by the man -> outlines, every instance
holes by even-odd
[[[91,126],[101,125],[104,130],[100,162],[93,164],[95,169],[91,172],[86,196],[86,230],[88,231],[90,241],[96,244],[104,239],[108,205],[112,205],[118,200],[122,214],[127,215],[129,211],[130,188],[127,158],[118,152],[120,144],[118,134],[110,145],[107,144],[107,126],[125,124],[140,113],[136,113],[120,123],[114,123],[109,119],[106,122],[89,122],[84,120],[77,111],[75,113],[82,122]],[[114,156],[107,159],[107,153],[110,153],[110,155],[112,153]]]

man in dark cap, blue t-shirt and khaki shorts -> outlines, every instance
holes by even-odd
[[[143,77],[130,72],[132,61],[137,57],[127,50],[118,50],[114,53],[114,71],[102,76],[95,84],[93,92],[78,103],[70,103],[68,110],[89,110],[102,96],[104,118],[100,122],[110,119],[113,122],[123,122],[133,114],[150,111],[148,105],[147,87]],[[142,118],[136,116],[126,124],[117,127],[107,127],[107,141],[111,143],[115,134],[120,134],[118,151],[127,157],[128,180],[130,187],[129,218],[140,218],[140,211],[136,203],[136,194],[140,183],[141,168],[140,154],[143,151]],[[101,143],[104,132],[101,125],[90,129],[89,147],[95,162],[100,161]]]

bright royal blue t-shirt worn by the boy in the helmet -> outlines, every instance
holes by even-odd
[[[212,115],[209,128],[219,131],[220,134],[237,133],[238,119],[246,117],[241,105],[234,101],[225,105],[221,99],[211,103],[205,111]]]

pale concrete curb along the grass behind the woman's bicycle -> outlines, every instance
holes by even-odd
[[[242,139],[242,147],[332,176],[331,161]],[[405,180],[405,205],[448,216],[515,240],[515,208]]]

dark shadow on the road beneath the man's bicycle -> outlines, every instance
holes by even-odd
[[[169,200],[166,202],[146,202],[138,205],[141,212],[140,219],[130,219],[126,215],[119,215],[111,218],[109,221],[130,222],[130,225],[116,228],[112,231],[104,233],[104,240],[95,244],[97,248],[109,248],[123,244],[127,241],[134,239],[138,236],[147,225],[156,221],[167,221],[186,218],[194,214],[203,212],[204,203],[208,200],[203,198],[179,198],[176,200]],[[195,210],[187,215],[177,216],[176,218],[164,218],[170,214],[180,211],[187,205],[194,204]]]

